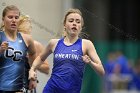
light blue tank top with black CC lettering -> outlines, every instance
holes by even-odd
[[[17,33],[15,41],[10,41],[4,32],[0,32],[0,44],[3,41],[7,41],[9,47],[0,55],[0,90],[20,90],[23,87],[27,46],[20,33]]]

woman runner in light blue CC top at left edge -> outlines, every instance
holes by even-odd
[[[30,35],[18,33],[20,11],[7,6],[2,13],[3,30],[0,32],[0,93],[16,93],[23,88],[25,59],[28,53],[32,64],[36,57]],[[35,86],[31,84],[30,89]],[[22,92],[21,92],[22,93]]]

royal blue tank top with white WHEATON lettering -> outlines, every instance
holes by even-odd
[[[53,93],[80,93],[85,68],[81,56],[82,39],[70,46],[64,44],[64,38],[58,41],[54,50],[52,75],[47,84],[53,87]],[[46,90],[44,93],[49,92]]]

